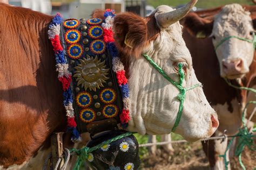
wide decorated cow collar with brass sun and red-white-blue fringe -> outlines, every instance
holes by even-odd
[[[67,131],[73,141],[80,133],[113,130],[129,121],[129,88],[114,45],[114,12],[105,19],[66,19],[57,14],[49,26],[58,79],[63,85]]]

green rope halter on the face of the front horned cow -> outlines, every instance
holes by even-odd
[[[175,123],[174,123],[174,125],[173,125],[173,128],[172,128],[172,132],[174,132],[174,131],[177,129],[177,127],[178,127],[178,125],[179,125],[179,122],[180,122],[180,118],[181,118],[182,110],[183,110],[183,105],[184,105],[184,100],[185,100],[185,97],[186,97],[186,91],[192,90],[192,89],[194,89],[194,88],[196,88],[196,87],[199,87],[199,86],[201,86],[201,84],[195,84],[194,86],[192,86],[192,87],[190,87],[190,88],[185,88],[185,87],[182,86],[183,81],[184,81],[184,78],[185,78],[185,74],[184,74],[184,71],[183,71],[183,68],[182,68],[181,63],[179,63],[179,65],[178,65],[178,67],[179,67],[178,73],[179,73],[179,75],[180,75],[180,81],[179,81],[179,83],[178,83],[178,82],[176,82],[176,81],[173,81],[173,80],[164,72],[164,70],[163,70],[161,67],[159,67],[159,66],[157,65],[157,63],[155,63],[155,62],[150,58],[149,55],[143,54],[143,56],[145,57],[145,59],[146,59],[147,61],[150,62],[150,64],[151,64],[154,68],[156,68],[156,69],[158,70],[158,72],[159,72],[161,75],[163,75],[163,76],[165,77],[166,80],[168,80],[169,82],[171,82],[175,87],[177,87],[177,88],[179,89],[179,94],[178,94],[177,98],[178,98],[178,100],[180,101],[180,104],[179,104],[179,111],[178,111],[178,114],[177,114],[177,117],[176,117],[176,121],[175,121]]]

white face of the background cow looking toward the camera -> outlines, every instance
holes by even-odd
[[[218,47],[216,54],[220,64],[221,77],[237,79],[249,72],[253,61],[254,46],[251,42],[226,37],[236,36],[252,40],[254,29],[250,12],[245,11],[239,4],[226,5],[214,18],[212,38],[213,45]]]

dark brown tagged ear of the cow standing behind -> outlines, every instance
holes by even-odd
[[[193,36],[206,38],[212,33],[213,20],[201,18],[197,13],[192,12],[184,18],[183,25]]]

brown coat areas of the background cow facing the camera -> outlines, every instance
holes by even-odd
[[[244,8],[248,11],[250,10],[253,22],[255,22],[256,6],[244,5]],[[211,32],[210,26],[207,26],[207,24],[209,24],[209,19],[213,19],[214,15],[219,12],[219,9],[220,8],[190,13],[183,20],[185,27],[183,37],[188,49],[190,49],[193,67],[198,80],[204,84],[204,93],[207,100],[211,105],[227,103],[228,111],[233,112],[231,101],[237,99],[239,103],[245,103],[247,91],[237,90],[228,86],[224,79],[220,77],[219,62],[214,51],[212,39],[208,37],[205,39],[197,39],[194,37],[198,31],[206,31],[207,35]],[[256,53],[254,53],[254,61],[256,61]],[[238,84],[236,81],[232,81],[232,84],[245,87],[252,87],[256,84],[256,62],[254,61],[250,66],[250,72],[242,79],[242,83]],[[201,72],[201,70],[204,70],[204,72]],[[214,141],[210,141],[209,144],[208,147],[207,143],[203,143],[203,148],[210,162],[210,166],[214,167],[218,159],[215,158],[215,148],[212,148],[214,147]]]

